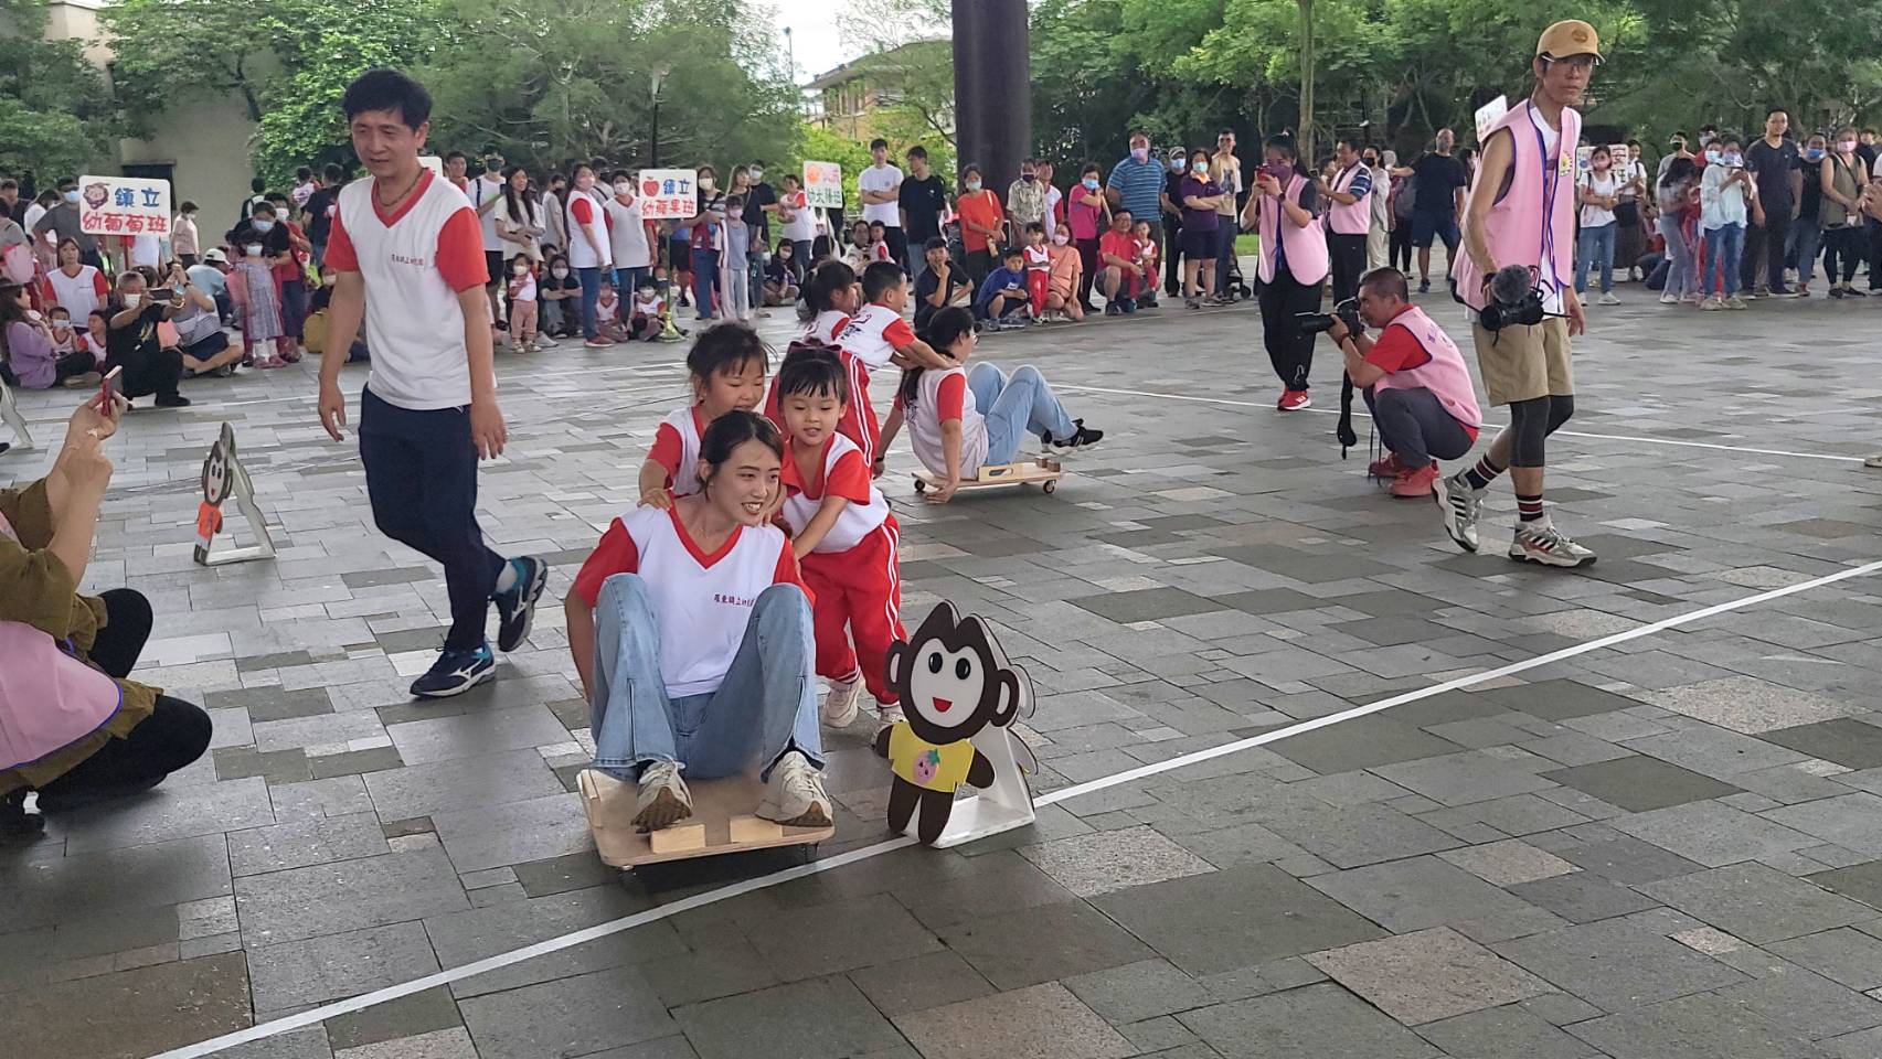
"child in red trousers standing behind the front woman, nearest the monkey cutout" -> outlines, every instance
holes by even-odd
[[[869,476],[869,461],[841,433],[851,371],[828,350],[800,350],[777,371],[787,440],[779,517],[811,591],[817,673],[830,681],[822,720],[856,719],[868,687],[885,724],[901,720],[888,683],[888,645],[901,628],[901,529]],[[851,647],[854,640],[854,647]]]

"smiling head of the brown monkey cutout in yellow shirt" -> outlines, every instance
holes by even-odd
[[[1020,707],[1020,679],[981,619],[939,604],[907,641],[888,649],[888,681],[901,694],[909,728],[930,743],[971,739],[1007,726]]]

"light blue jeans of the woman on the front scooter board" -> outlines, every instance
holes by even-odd
[[[668,698],[647,583],[615,574],[595,600],[595,767],[632,781],[638,766],[679,762],[696,779],[717,779],[757,764],[770,779],[785,751],[822,767],[815,658],[809,600],[796,585],[772,585],[751,608],[725,683]]]

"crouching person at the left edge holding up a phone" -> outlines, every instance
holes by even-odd
[[[132,683],[151,636],[151,602],[132,589],[79,594],[111,483],[107,412],[92,395],[66,425],[53,470],[0,489],[0,839],[62,813],[149,790],[209,749],[209,715]],[[126,880],[136,884],[136,880]]]

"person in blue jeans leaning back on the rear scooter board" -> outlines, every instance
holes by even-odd
[[[979,335],[965,308],[935,312],[928,342],[950,357],[950,367],[905,371],[883,427],[886,451],[907,421],[915,457],[941,480],[928,491],[928,500],[947,504],[981,466],[1013,463],[1026,435],[1039,435],[1045,444],[1061,450],[1088,448],[1105,436],[1086,427],[1084,419],[1073,419],[1031,365],[1011,378],[990,363],[979,363],[969,372],[964,365]]]

